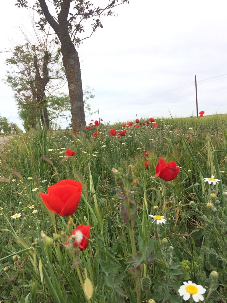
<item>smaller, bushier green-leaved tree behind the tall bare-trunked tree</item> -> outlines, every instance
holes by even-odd
[[[28,41],[28,38],[27,38]],[[38,45],[27,42],[15,46],[12,57],[6,60],[7,65],[15,66],[15,71],[8,71],[6,82],[15,92],[19,115],[27,125],[36,127],[45,125],[49,129],[49,117],[46,101],[46,92],[51,94],[64,82],[64,71],[58,64],[60,49],[51,47],[47,36]],[[57,82],[56,82],[56,79]],[[53,83],[53,81],[55,81]],[[41,122],[40,122],[41,120]]]

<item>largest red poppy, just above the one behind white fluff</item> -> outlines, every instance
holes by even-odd
[[[48,194],[40,192],[46,207],[60,216],[72,215],[79,204],[82,183],[75,180],[61,180],[47,189]]]

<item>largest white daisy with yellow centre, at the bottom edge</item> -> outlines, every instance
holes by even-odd
[[[183,282],[184,285],[178,289],[179,295],[183,296],[185,301],[189,300],[192,295],[192,298],[195,302],[203,301],[204,298],[202,294],[206,292],[206,289],[202,285],[196,285],[192,281]]]

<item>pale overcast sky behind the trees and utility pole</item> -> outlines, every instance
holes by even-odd
[[[130,0],[114,11],[118,16],[102,19],[104,27],[78,48],[83,88],[94,89],[92,109],[99,108],[104,122],[126,122],[136,114],[168,117],[169,111],[177,117],[196,115],[195,75],[199,111],[227,112],[226,0]],[[19,26],[31,28],[28,10],[5,1],[1,49],[24,43]],[[0,79],[6,58],[0,54]],[[13,92],[2,81],[0,102],[0,115],[21,127]],[[87,123],[91,118],[97,114]]]

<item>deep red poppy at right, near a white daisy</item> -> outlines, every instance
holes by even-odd
[[[180,167],[175,162],[171,161],[166,163],[163,158],[159,158],[155,168],[155,177],[159,177],[165,181],[171,181],[176,178],[180,170]]]

